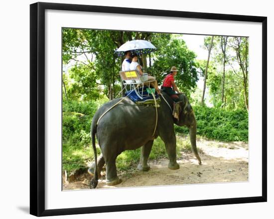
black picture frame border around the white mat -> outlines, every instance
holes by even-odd
[[[186,17],[262,23],[262,196],[45,210],[45,10]],[[37,2],[30,5],[30,214],[57,216],[267,202],[267,17]]]

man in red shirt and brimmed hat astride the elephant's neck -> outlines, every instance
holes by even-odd
[[[170,74],[168,74],[164,80],[163,80],[163,86],[162,86],[162,91],[167,93],[174,102],[179,101],[179,97],[177,93],[180,93],[175,82],[174,82],[174,76],[177,74],[178,70],[175,66],[173,66],[170,69]],[[175,92],[177,91],[177,93]]]

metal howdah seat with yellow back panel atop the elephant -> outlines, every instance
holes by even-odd
[[[129,86],[129,90],[135,90],[137,95],[141,99],[144,97],[143,95],[144,87],[146,86],[149,89],[150,83],[155,81],[155,79],[147,80],[148,74],[143,73],[142,75],[140,75],[137,70],[120,71],[119,74],[123,81],[126,91],[128,91],[127,87]],[[137,89],[137,88],[142,88],[142,89]],[[148,96],[148,95],[149,93],[145,94],[145,96]]]

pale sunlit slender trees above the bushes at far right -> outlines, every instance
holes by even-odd
[[[209,63],[211,70],[209,69],[207,78],[209,99],[214,107],[217,108],[247,109],[248,37],[228,37],[226,44],[224,102],[222,102],[224,54],[221,49],[222,47],[224,48],[224,37],[223,40],[221,39],[221,36],[214,37],[213,52]],[[208,46],[208,42],[209,38],[205,37],[205,46]],[[245,96],[247,103],[245,102]]]

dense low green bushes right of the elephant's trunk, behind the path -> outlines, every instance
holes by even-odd
[[[225,110],[193,106],[197,120],[197,135],[223,141],[248,141],[248,112],[245,109]],[[185,127],[175,126],[178,133],[188,133]]]

